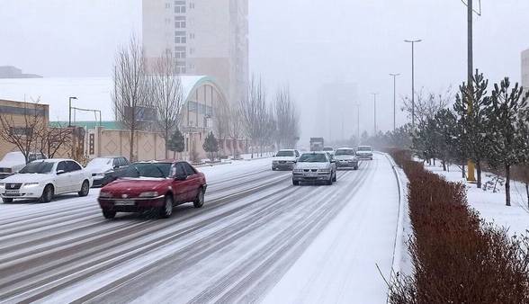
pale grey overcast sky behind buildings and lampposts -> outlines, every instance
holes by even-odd
[[[519,81],[520,53],[529,48],[529,1],[482,2],[474,66],[491,81]],[[357,84],[363,130],[372,130],[371,93],[379,93],[379,127],[389,130],[388,74],[402,74],[399,96],[411,90],[411,49],[404,39],[424,40],[416,48],[417,88],[440,92],[466,75],[461,0],[250,0],[249,22],[250,67],[271,90],[291,85],[304,139],[316,123],[318,88],[333,81]],[[139,28],[140,0],[1,0],[0,65],[43,76],[108,76],[115,50]]]

